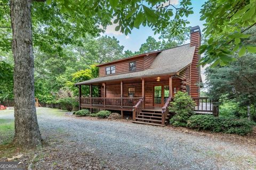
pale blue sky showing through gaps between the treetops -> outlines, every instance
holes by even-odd
[[[179,5],[179,1],[181,0],[171,0],[172,4],[174,5]],[[188,26],[196,26],[199,25],[199,27],[201,28],[201,30],[203,29],[203,24],[204,21],[200,21],[200,9],[201,6],[204,4],[204,0],[191,0],[192,2],[192,6],[193,7],[193,11],[194,14],[189,15],[189,17],[187,18],[187,20],[190,22],[190,24],[188,24]],[[104,33],[104,35],[107,36],[115,36],[119,41],[120,41],[120,45],[124,46],[124,50],[132,50],[132,52],[134,51],[138,51],[141,44],[146,42],[146,39],[148,38],[148,36],[152,36],[155,39],[158,39],[159,35],[154,35],[154,32],[149,28],[149,27],[140,27],[139,29],[133,29],[132,33],[125,36],[123,33],[121,32],[117,32],[115,31],[115,26],[116,25],[109,25],[106,29],[106,32]]]

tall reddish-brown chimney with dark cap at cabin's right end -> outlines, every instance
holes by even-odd
[[[201,82],[201,69],[198,67],[198,62],[200,60],[200,55],[198,53],[198,48],[201,46],[201,30],[199,26],[192,27],[190,29],[190,46],[195,46],[195,53],[193,57],[192,64],[190,66],[191,75],[191,87],[190,95],[191,97],[200,97],[200,87],[198,83]]]

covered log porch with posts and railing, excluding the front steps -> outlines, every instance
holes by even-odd
[[[99,108],[133,111],[142,100],[142,108],[161,111],[167,98],[182,90],[179,77],[165,75],[150,78],[134,78],[78,85],[79,109]],[[87,87],[84,90],[83,87]],[[172,90],[170,90],[172,89]]]

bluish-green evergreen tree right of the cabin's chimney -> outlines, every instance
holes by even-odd
[[[256,27],[246,33],[250,38],[243,40],[243,44],[256,43]],[[206,69],[206,88],[209,94],[219,99],[223,95],[227,99],[235,99],[242,106],[256,104],[256,54],[246,53],[239,57],[234,55],[235,61],[227,66],[208,67]]]

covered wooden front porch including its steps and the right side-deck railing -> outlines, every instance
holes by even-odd
[[[188,91],[186,79],[180,75],[163,75],[148,78],[133,78],[93,82],[77,85],[79,109],[130,112],[134,122],[148,121],[161,125],[169,118],[169,103],[178,91]],[[214,114],[213,102],[207,98],[192,97],[199,114]],[[150,121],[149,121],[150,119]]]

